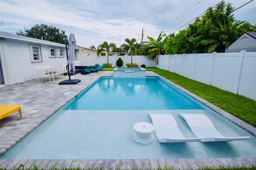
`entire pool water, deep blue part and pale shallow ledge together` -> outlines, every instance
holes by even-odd
[[[194,137],[179,113],[208,116],[224,136],[248,141],[136,143],[133,125],[148,113],[169,113],[186,138]],[[158,77],[100,78],[1,158],[171,159],[256,157],[256,139]]]

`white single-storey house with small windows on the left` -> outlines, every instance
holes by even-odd
[[[80,47],[75,47],[79,65]],[[37,78],[37,66],[67,65],[65,44],[0,32],[0,84]]]

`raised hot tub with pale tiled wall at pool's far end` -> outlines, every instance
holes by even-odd
[[[146,77],[146,70],[142,67],[116,67],[113,77]]]

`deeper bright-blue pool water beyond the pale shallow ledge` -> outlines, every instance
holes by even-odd
[[[101,78],[65,110],[204,109],[194,99],[158,77]]]

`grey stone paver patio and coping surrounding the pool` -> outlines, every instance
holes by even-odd
[[[159,76],[152,71],[146,71],[147,76]],[[24,138],[34,128],[38,127],[48,117],[58,111],[68,101],[73,99],[86,87],[101,76],[113,76],[113,71],[94,75],[72,75],[71,79],[80,79],[76,85],[50,85],[38,84],[34,79],[23,84],[14,84],[0,87],[1,105],[21,105],[23,117],[19,113],[13,113],[0,120],[0,155],[4,154],[14,144]],[[161,77],[161,76],[159,76]],[[161,77],[168,81],[167,79]],[[248,125],[226,111],[212,105],[208,101],[194,95],[182,87],[168,81],[194,99],[210,107],[228,120],[244,128],[256,136],[256,128]],[[60,88],[61,87],[61,88]],[[24,168],[32,168],[34,164],[38,168],[116,168],[120,169],[156,169],[158,167],[174,167],[174,169],[198,169],[202,167],[241,167],[256,165],[256,157],[253,158],[196,158],[196,159],[127,159],[127,160],[50,160],[50,159],[0,159],[0,168],[18,168],[20,164]]]

